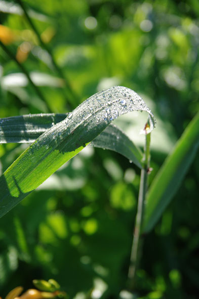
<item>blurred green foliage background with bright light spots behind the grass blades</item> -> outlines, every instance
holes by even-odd
[[[0,49],[0,117],[63,113],[102,89],[135,90],[157,119],[149,183],[199,108],[199,6],[189,1],[23,0],[49,52],[18,2],[0,1],[0,39],[23,65]],[[67,78],[60,77],[51,55]],[[139,145],[142,114],[123,129]],[[139,129],[134,122],[139,124]],[[25,145],[0,147],[1,172]],[[134,169],[132,169],[134,168]],[[173,202],[144,236],[136,291],[143,298],[199,294],[196,156]],[[119,154],[91,148],[0,220],[0,290],[54,278],[70,298],[125,298],[139,169]],[[60,180],[61,176],[61,180]],[[136,297],[136,295],[135,295]]]

